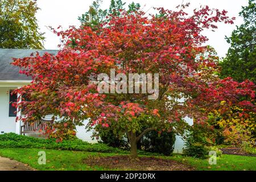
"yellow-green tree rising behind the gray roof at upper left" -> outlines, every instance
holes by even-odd
[[[43,34],[39,32],[32,0],[0,1],[0,48],[43,48]]]

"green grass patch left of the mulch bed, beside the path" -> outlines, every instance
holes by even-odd
[[[46,165],[38,164],[38,152],[46,152]],[[107,170],[102,167],[89,167],[82,162],[82,159],[92,155],[111,156],[114,153],[79,152],[63,150],[47,150],[38,148],[1,148],[0,155],[21,163],[28,164],[32,168],[47,171],[59,170]]]

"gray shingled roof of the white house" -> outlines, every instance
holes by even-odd
[[[0,49],[0,81],[1,80],[32,80],[31,77],[20,74],[19,67],[15,67],[10,63],[13,58],[23,58],[30,56],[31,53],[39,52],[43,55],[45,52],[55,55],[57,50],[42,49]]]

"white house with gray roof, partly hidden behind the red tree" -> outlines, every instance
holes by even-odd
[[[11,96],[11,90],[30,84],[31,78],[26,75],[19,74],[19,68],[11,65],[13,58],[22,58],[30,56],[31,53],[39,52],[40,55],[48,52],[53,55],[57,50],[40,50],[40,49],[0,49],[0,134],[16,133],[20,134],[20,127],[23,123],[15,122],[16,114],[15,107],[11,106],[10,102],[15,101],[17,96]],[[17,113],[20,114],[20,113]],[[193,121],[190,118],[185,120],[192,125]],[[84,122],[86,124],[86,121]],[[88,142],[95,142],[90,138],[92,133],[86,132],[84,126],[77,127],[77,137]],[[176,136],[174,152],[182,152],[184,141],[181,137]]]

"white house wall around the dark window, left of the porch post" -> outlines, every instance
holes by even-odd
[[[15,133],[15,117],[9,117],[9,90],[15,88],[0,87],[0,134]]]

